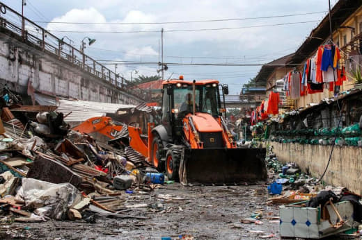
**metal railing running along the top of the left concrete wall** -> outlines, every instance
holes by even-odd
[[[49,31],[32,22],[30,19],[23,17],[19,12],[9,8],[2,2],[0,2],[0,28],[15,33],[21,37],[22,42],[32,44],[40,51],[54,55],[58,60],[65,60],[74,67],[86,71],[88,74],[106,80],[123,92],[132,94],[138,98],[143,96],[141,90],[124,89],[124,78],[118,76],[118,74],[84,54],[82,51],[75,49],[74,46],[49,33]]]

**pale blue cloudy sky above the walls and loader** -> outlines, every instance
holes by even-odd
[[[22,11],[22,0],[2,2]],[[131,74],[157,75],[162,28],[164,62],[263,64],[297,50],[328,8],[328,0],[26,0],[24,15],[59,38],[69,37],[75,47],[84,37],[94,38],[85,53],[113,71],[118,61],[117,73],[131,80]],[[225,19],[233,20],[219,21]],[[259,70],[168,65],[164,78],[217,79],[229,85],[230,94],[239,94]]]

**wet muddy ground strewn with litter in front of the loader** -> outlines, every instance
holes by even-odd
[[[189,234],[196,239],[260,239],[275,234],[279,239],[278,206],[266,205],[267,187],[182,187],[165,185],[151,194],[127,194],[126,205],[162,203],[164,210],[137,208],[126,214],[149,219],[112,219],[98,217],[96,223],[82,221],[47,221],[45,223],[1,223],[0,239],[161,239],[162,236]],[[256,190],[255,189],[260,189]],[[181,200],[160,200],[158,194],[171,194]],[[262,224],[242,224],[262,210]],[[252,231],[262,231],[255,233]]]

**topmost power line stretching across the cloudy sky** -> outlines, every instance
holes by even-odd
[[[274,15],[274,16],[266,16],[266,17],[244,17],[244,18],[232,18],[232,19],[209,19],[209,20],[190,20],[190,21],[180,21],[180,22],[44,22],[44,21],[36,21],[36,23],[42,24],[102,24],[102,25],[141,25],[141,24],[190,24],[190,23],[201,23],[201,22],[229,22],[229,21],[241,21],[241,20],[249,20],[249,19],[270,19],[270,18],[278,18],[278,17],[294,17],[301,15],[313,15],[318,13],[323,13],[326,11],[319,12],[304,12],[304,13],[296,13],[289,15]]]

